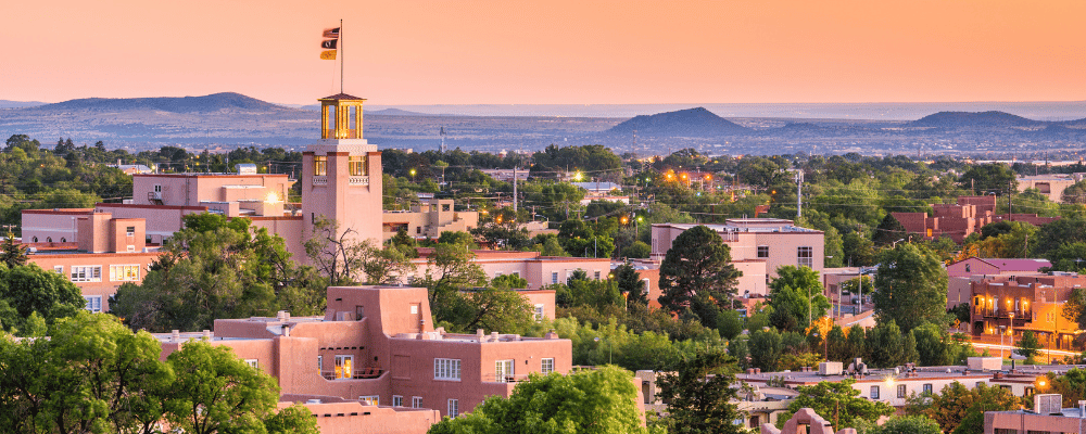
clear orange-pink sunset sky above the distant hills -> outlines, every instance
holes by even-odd
[[[1086,100],[1081,0],[8,0],[0,100]]]

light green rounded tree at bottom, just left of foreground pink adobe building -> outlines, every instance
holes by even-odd
[[[194,434],[260,432],[279,386],[227,346],[190,341],[166,358],[177,380],[165,401],[166,420]]]

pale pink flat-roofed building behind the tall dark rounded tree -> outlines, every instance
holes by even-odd
[[[653,250],[649,256],[662,260],[680,233],[697,227],[694,224],[653,225]],[[743,272],[738,296],[766,295],[769,279],[781,266],[809,267],[822,272],[825,234],[800,228],[792,220],[779,218],[729,219],[724,225],[704,225],[720,234],[731,247],[732,265]]]

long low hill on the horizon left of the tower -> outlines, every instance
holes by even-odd
[[[151,110],[171,113],[207,113],[227,111],[283,112],[298,111],[245,97],[241,93],[222,92],[204,97],[162,98],[84,98],[34,107],[38,111],[96,111],[123,112]]]

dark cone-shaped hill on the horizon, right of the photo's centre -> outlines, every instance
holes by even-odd
[[[705,107],[641,115],[608,129],[610,135],[656,137],[717,137],[746,133],[749,129],[717,116]]]

